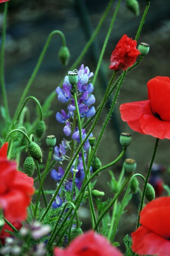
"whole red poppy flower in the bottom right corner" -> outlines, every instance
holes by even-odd
[[[170,256],[170,197],[149,202],[140,213],[132,236],[132,250],[139,255]]]

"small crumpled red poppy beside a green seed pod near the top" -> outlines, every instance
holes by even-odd
[[[124,35],[112,52],[109,68],[111,70],[127,70],[135,63],[139,54],[141,53],[136,49],[136,41]]]

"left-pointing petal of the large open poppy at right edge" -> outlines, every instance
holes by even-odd
[[[151,114],[150,101],[136,101],[120,106],[121,119],[127,121],[132,130],[145,133],[141,129],[140,117],[143,114]]]

